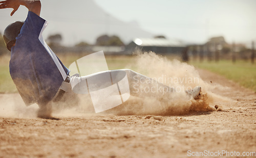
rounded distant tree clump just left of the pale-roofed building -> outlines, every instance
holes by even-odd
[[[96,39],[96,45],[123,46],[124,44],[118,36],[101,35]]]

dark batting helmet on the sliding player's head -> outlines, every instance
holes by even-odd
[[[20,33],[20,29],[22,29],[24,22],[16,21],[8,25],[4,31],[4,40],[5,45],[8,50],[11,51],[13,44],[16,42],[16,37]]]

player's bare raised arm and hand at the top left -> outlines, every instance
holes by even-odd
[[[39,0],[6,0],[0,2],[0,9],[13,8],[11,16],[18,10],[19,6],[25,6],[29,11],[40,16],[41,3]]]

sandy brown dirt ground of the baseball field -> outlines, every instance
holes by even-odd
[[[198,152],[220,157],[218,151],[229,152],[223,157],[250,157],[242,154],[256,151],[256,94],[214,73],[199,73],[207,83],[229,87],[213,91],[229,98],[215,102],[220,111],[58,119],[0,116],[0,157],[196,157]],[[7,97],[22,102],[18,94],[1,94],[2,105]]]

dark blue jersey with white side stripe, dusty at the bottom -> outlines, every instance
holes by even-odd
[[[42,38],[47,24],[29,11],[11,49],[10,74],[27,106],[51,101],[70,72]]]

